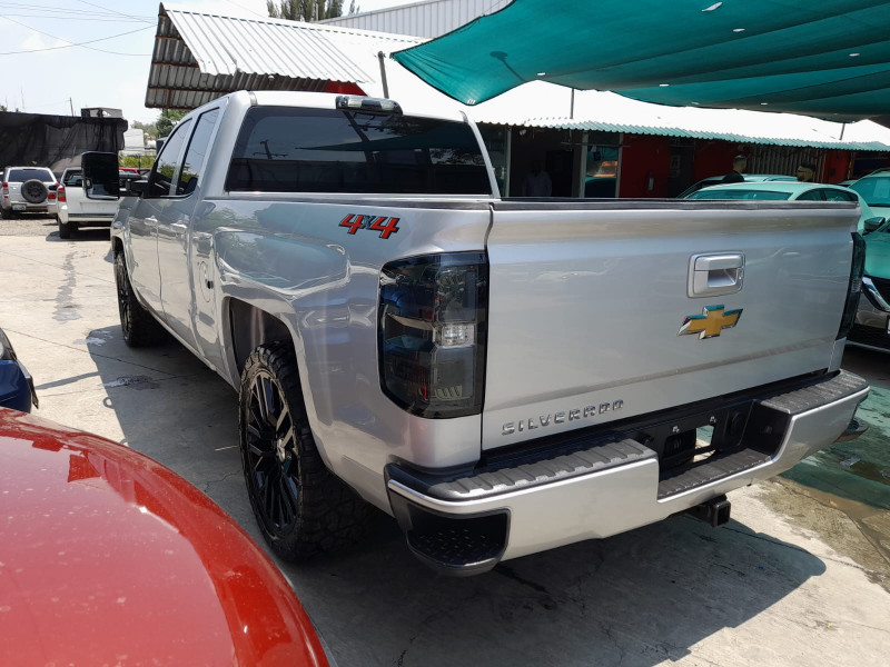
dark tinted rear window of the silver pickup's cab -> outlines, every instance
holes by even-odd
[[[491,193],[478,142],[465,123],[279,107],[247,112],[226,189]]]

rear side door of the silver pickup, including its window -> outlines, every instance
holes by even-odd
[[[158,218],[158,268],[164,320],[186,344],[197,349],[202,346],[197,345],[192,317],[198,302],[202,301],[201,288],[204,291],[208,289],[208,279],[201,280],[200,285],[192,281],[192,273],[199,271],[199,267],[191,258],[191,227],[195,207],[200,200],[207,147],[218,118],[219,108],[210,109],[197,118],[181,166],[176,170],[170,207]]]

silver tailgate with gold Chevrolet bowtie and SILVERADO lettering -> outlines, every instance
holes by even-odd
[[[495,203],[483,448],[828,368],[857,221],[846,203]]]

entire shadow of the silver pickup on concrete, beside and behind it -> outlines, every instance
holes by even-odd
[[[241,476],[235,391],[172,341],[132,350],[107,327],[87,342],[126,444],[201,488],[266,547]],[[713,529],[675,517],[453,579],[411,556],[379,511],[352,550],[279,566],[340,667],[650,667],[825,570],[809,551],[738,521]]]

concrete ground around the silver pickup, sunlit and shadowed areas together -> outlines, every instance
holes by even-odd
[[[21,219],[0,237],[0,327],[34,377],[36,414],[164,462],[263,544],[235,391],[176,342],[123,344],[108,231],[62,241],[52,220]],[[872,430],[731,494],[724,528],[676,517],[451,579],[375,512],[356,548],[279,566],[340,667],[886,665],[888,362],[844,359],[872,382]]]

